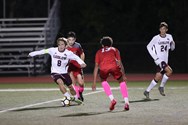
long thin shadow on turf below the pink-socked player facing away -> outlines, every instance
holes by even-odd
[[[122,111],[104,111],[104,112],[81,112],[81,113],[72,113],[72,114],[62,115],[60,117],[81,117],[81,116],[92,116],[92,115],[120,113],[120,112],[126,112],[126,111],[122,110]]]

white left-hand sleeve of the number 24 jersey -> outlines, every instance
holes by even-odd
[[[157,54],[154,52],[155,51],[155,41],[156,41],[156,37],[153,37],[152,40],[149,42],[149,44],[147,45],[147,50],[149,52],[149,54],[151,55],[151,57],[156,60],[158,59]]]

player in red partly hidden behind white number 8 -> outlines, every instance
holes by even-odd
[[[72,51],[74,54],[79,56],[83,61],[85,59],[84,51],[80,45],[80,43],[76,42],[76,33],[68,32],[67,34],[67,49]],[[71,60],[69,63],[70,77],[73,81],[74,89],[76,91],[77,96],[81,101],[84,101],[83,91],[84,91],[84,76],[83,70],[79,67],[79,64],[75,60]],[[76,84],[78,82],[78,85]]]

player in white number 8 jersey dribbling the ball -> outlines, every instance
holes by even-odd
[[[75,60],[79,63],[81,68],[86,67],[84,61],[82,61],[77,55],[73,52],[66,49],[67,42],[64,38],[57,39],[58,47],[51,47],[48,49],[43,49],[39,51],[33,51],[29,53],[29,56],[33,57],[36,55],[50,54],[51,56],[51,77],[58,84],[60,91],[64,96],[70,97],[70,94],[67,92],[66,87],[70,90],[70,93],[74,96],[72,100],[81,104],[82,101],[78,100],[78,96],[72,86],[72,80],[68,74],[68,63],[69,60]]]

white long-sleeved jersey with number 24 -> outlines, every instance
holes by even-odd
[[[175,49],[175,42],[170,34],[165,37],[156,35],[147,45],[147,49],[154,60],[160,59],[168,63],[169,49]]]

